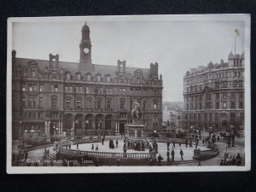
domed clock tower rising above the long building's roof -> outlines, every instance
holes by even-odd
[[[90,28],[86,22],[82,28],[82,39],[79,44],[80,49],[80,69],[85,71],[93,71],[91,63],[91,44],[90,44]]]

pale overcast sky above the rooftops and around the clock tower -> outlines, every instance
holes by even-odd
[[[209,20],[97,20],[16,22],[13,25],[13,49],[17,57],[49,60],[49,53],[60,61],[79,62],[81,28],[90,26],[92,62],[149,68],[159,63],[163,76],[163,101],[183,102],[183,76],[191,67],[228,60],[244,51],[243,21]]]

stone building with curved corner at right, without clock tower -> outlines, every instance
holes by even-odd
[[[183,77],[183,127],[229,131],[244,125],[244,54],[192,68]]]

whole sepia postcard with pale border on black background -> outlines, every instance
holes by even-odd
[[[9,18],[7,172],[250,171],[250,23]]]

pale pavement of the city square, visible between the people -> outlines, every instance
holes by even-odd
[[[99,152],[113,152],[113,153],[123,153],[123,146],[124,146],[124,140],[123,138],[117,137],[118,141],[119,141],[119,146],[118,148],[109,148],[108,147],[108,138],[106,138],[104,145],[102,145],[102,143],[97,143],[98,144],[98,148],[99,148]],[[114,144],[116,140],[113,140]],[[241,138],[242,141],[242,138]],[[85,150],[85,151],[90,151],[91,150],[91,144],[92,143],[83,143],[83,144],[79,144],[79,150]],[[241,155],[241,159],[242,159],[242,164],[244,164],[244,147],[242,145],[235,145],[235,147],[231,147],[231,148],[226,148],[226,143],[224,142],[219,142],[216,143],[219,149],[219,154],[218,156],[209,159],[209,160],[201,160],[201,165],[202,166],[219,166],[220,160],[224,159],[224,153],[227,153],[229,155],[235,155],[237,153],[240,153]],[[94,143],[94,145],[96,146],[96,143]],[[53,146],[51,147],[47,147],[49,148],[49,156],[53,156]],[[166,157],[166,149],[167,149],[167,145],[166,143],[158,143],[158,148],[159,148],[159,153],[157,154],[157,156],[159,154],[161,154],[161,156],[163,157],[163,162],[167,161],[167,157]],[[174,152],[175,152],[175,157],[174,160],[181,160],[180,157],[180,148],[183,149],[183,160],[193,160],[193,155],[194,155],[194,149],[195,149],[195,145],[193,144],[193,147],[185,147],[184,144],[181,145],[181,147],[179,147],[178,144],[176,144],[175,148],[174,148]],[[201,143],[201,141],[199,142],[198,148],[201,148],[201,150],[206,150],[206,146],[203,146],[203,144]],[[72,146],[72,149],[77,149],[76,145]],[[172,143],[170,144],[170,152],[172,150]],[[149,153],[149,150],[146,149],[145,151],[136,151],[133,149],[128,149],[127,153]],[[43,166],[43,155],[44,155],[44,148],[37,148],[37,149],[33,149],[31,151],[28,152],[28,158],[27,160],[30,160],[31,162],[37,160],[38,161],[38,166]],[[170,159],[172,159],[171,153],[170,153]],[[20,166],[26,166],[26,161],[23,160],[22,163],[20,163]],[[33,164],[32,164],[33,166]],[[49,166],[49,164],[48,164]],[[54,166],[62,166],[60,161],[54,161]],[[79,164],[75,164],[74,166],[79,166]],[[189,163],[186,164],[186,166],[197,166],[197,164],[193,164],[193,163]]]

